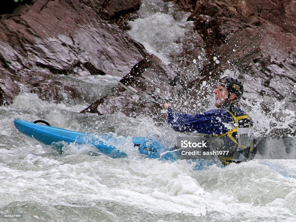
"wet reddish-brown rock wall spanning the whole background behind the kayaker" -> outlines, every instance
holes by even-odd
[[[282,121],[280,112],[272,112],[277,102],[296,110],[295,1],[172,2],[173,10],[190,12],[188,20],[194,24],[182,39],[183,52],[170,65],[125,32],[127,20],[138,17],[140,0],[33,0],[3,15],[0,103],[11,103],[24,88],[57,102],[83,98],[91,104],[83,112],[159,112],[123,87],[94,98],[73,83],[73,77],[110,74],[157,102],[168,100],[180,108],[186,104],[183,111],[194,114],[203,111],[205,98],[213,94],[210,82],[227,70],[244,83],[244,99],[260,104],[266,115]],[[295,130],[294,121],[287,132]]]

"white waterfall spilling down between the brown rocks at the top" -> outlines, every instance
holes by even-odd
[[[182,38],[187,31],[185,23],[189,14],[181,14],[176,20],[175,12],[170,9],[172,3],[143,1],[139,10],[140,18],[130,21],[128,34],[144,45],[151,54],[155,54],[166,64],[182,52]],[[166,8],[166,9],[165,9]]]

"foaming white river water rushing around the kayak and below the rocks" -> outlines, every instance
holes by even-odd
[[[133,24],[141,27],[145,18],[153,17],[154,26],[165,19],[173,24],[170,14],[163,14],[157,7],[154,10],[157,16],[149,12]],[[174,30],[180,29],[178,36],[166,32],[172,42],[183,35],[179,22],[174,26]],[[145,45],[143,36],[134,30],[130,35],[138,36],[137,40]],[[146,43],[147,47],[163,44]],[[176,54],[181,45],[166,49],[170,47],[170,53]],[[158,53],[167,58],[168,52]],[[111,76],[71,78],[82,87],[96,85],[97,88],[90,89],[93,94],[104,94],[105,89],[116,84]],[[251,160],[225,168],[210,165],[195,170],[196,163],[186,160],[148,159],[133,147],[132,136],[180,134],[166,125],[156,126],[145,115],[131,118],[120,112],[102,116],[80,114],[85,107],[83,101],[61,104],[42,101],[26,89],[12,105],[0,107],[0,213],[23,215],[23,218],[0,218],[0,221],[296,220],[295,160]],[[250,115],[260,135],[275,120],[272,115],[263,115],[260,108],[252,108]],[[286,110],[286,114],[282,128],[291,117],[295,118],[292,111]],[[18,132],[13,125],[15,119],[44,119],[60,128],[110,133],[118,137],[119,149],[128,157],[94,156],[93,147],[74,144],[68,145],[60,155],[52,146]]]

